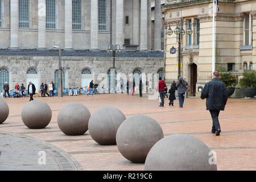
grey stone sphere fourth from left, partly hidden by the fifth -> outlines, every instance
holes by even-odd
[[[122,111],[114,107],[101,107],[96,110],[89,120],[89,133],[101,145],[116,144],[115,135],[118,127],[126,117]]]

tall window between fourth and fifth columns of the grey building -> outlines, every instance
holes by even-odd
[[[106,30],[106,0],[98,0],[98,30]]]

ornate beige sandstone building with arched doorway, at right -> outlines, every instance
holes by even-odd
[[[216,15],[216,70],[241,75],[256,66],[256,1],[220,0]],[[181,75],[187,78],[191,96],[199,96],[199,86],[212,78],[212,1],[167,1],[162,7],[165,22],[172,30],[177,20],[187,20],[193,30],[181,43]],[[176,35],[166,34],[165,75],[177,79]]]

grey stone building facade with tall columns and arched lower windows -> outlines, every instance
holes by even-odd
[[[6,81],[10,89],[16,82],[33,81],[37,89],[41,82],[57,82],[58,52],[53,45],[59,42],[65,87],[108,80],[113,67],[106,52],[110,44],[122,50],[116,58],[117,75],[163,75],[164,2],[0,0],[0,90]]]

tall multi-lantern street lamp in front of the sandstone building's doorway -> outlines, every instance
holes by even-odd
[[[169,25],[169,28],[167,30],[167,34],[171,36],[174,32],[174,34],[176,34],[176,42],[179,44],[179,47],[178,47],[178,76],[177,76],[178,80],[179,80],[179,77],[180,77],[180,63],[181,63],[181,42],[183,42],[183,36],[185,34],[191,35],[193,31],[192,31],[191,27],[187,27],[186,31],[184,30],[183,25],[188,24],[188,22],[185,21],[185,20],[178,20],[176,22],[175,30],[172,31],[171,24],[173,24],[173,23],[175,23],[175,22],[167,22],[165,24],[166,24],[166,28]]]

